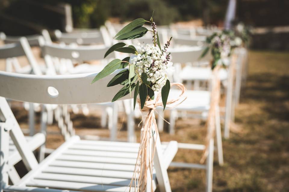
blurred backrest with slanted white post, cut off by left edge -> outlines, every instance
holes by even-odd
[[[0,58],[26,56],[34,74],[42,75],[37,61],[32,53],[28,40],[22,37],[17,43],[0,46]]]

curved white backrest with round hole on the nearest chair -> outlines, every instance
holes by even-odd
[[[0,96],[41,104],[110,102],[122,86],[107,87],[107,83],[120,70],[92,85],[90,83],[97,73],[49,76],[0,71]]]

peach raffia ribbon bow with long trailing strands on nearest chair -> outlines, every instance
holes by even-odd
[[[171,83],[172,86],[176,86],[181,90],[181,94],[179,97],[171,99],[167,101],[167,105],[169,108],[176,107],[181,104],[187,98],[185,93],[185,87],[182,83]],[[160,94],[157,94],[157,97],[154,100],[148,100],[145,102],[142,112],[148,112],[146,116],[144,116],[145,120],[143,122],[142,134],[141,134],[141,142],[138,150],[137,161],[135,164],[134,173],[132,176],[132,180],[130,183],[130,190],[134,188],[134,191],[145,191],[147,187],[148,176],[151,177],[151,181],[153,178],[153,159],[154,152],[156,147],[150,145],[156,136],[158,136],[157,122],[155,119],[154,111],[156,107],[163,106],[162,101],[159,101],[161,98]],[[140,104],[140,100],[137,100]],[[154,128],[154,129],[153,129]],[[149,171],[149,173],[148,173]],[[151,185],[151,191],[153,191]]]

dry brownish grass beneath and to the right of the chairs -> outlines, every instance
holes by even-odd
[[[247,84],[235,113],[235,123],[243,132],[231,132],[230,139],[223,141],[223,167],[215,154],[213,191],[289,191],[289,53],[250,51],[249,59]],[[26,112],[14,111],[27,128]],[[77,134],[109,134],[97,125],[99,116],[74,115],[72,120]],[[57,130],[55,125],[48,129]],[[160,135],[163,141],[204,143],[206,128],[198,120],[179,119],[175,135]],[[126,131],[118,136],[125,138]],[[63,142],[55,135],[47,140],[53,148]],[[174,160],[198,163],[201,154],[179,150]],[[205,190],[204,170],[169,168],[168,173],[172,191]]]

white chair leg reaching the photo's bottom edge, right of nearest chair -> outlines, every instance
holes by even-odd
[[[213,161],[214,161],[214,139],[210,140],[209,143],[209,154],[207,157],[207,170],[206,170],[206,178],[207,178],[207,186],[206,192],[211,192],[213,189]]]

